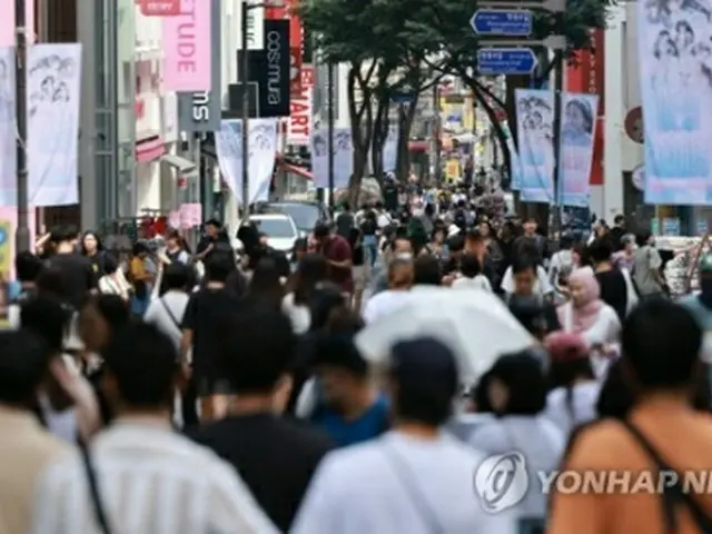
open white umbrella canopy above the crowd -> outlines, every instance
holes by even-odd
[[[484,290],[423,287],[390,315],[356,337],[363,356],[383,363],[400,340],[431,336],[447,344],[459,364],[461,380],[474,384],[505,353],[535,344],[532,335],[495,295]]]

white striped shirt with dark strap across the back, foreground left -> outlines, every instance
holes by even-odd
[[[112,534],[278,532],[229,464],[167,425],[120,419],[90,449]],[[79,454],[43,474],[32,532],[101,532]]]

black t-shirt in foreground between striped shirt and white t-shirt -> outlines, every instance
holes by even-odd
[[[267,414],[229,416],[190,437],[235,466],[280,532],[289,531],[317,465],[334,448],[306,423]]]

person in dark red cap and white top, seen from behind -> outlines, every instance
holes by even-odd
[[[551,390],[544,416],[566,436],[596,418],[601,384],[595,379],[589,349],[578,334],[555,332],[544,339],[548,352]]]

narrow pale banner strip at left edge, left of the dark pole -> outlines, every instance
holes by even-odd
[[[0,48],[0,206],[17,202],[14,49]]]

